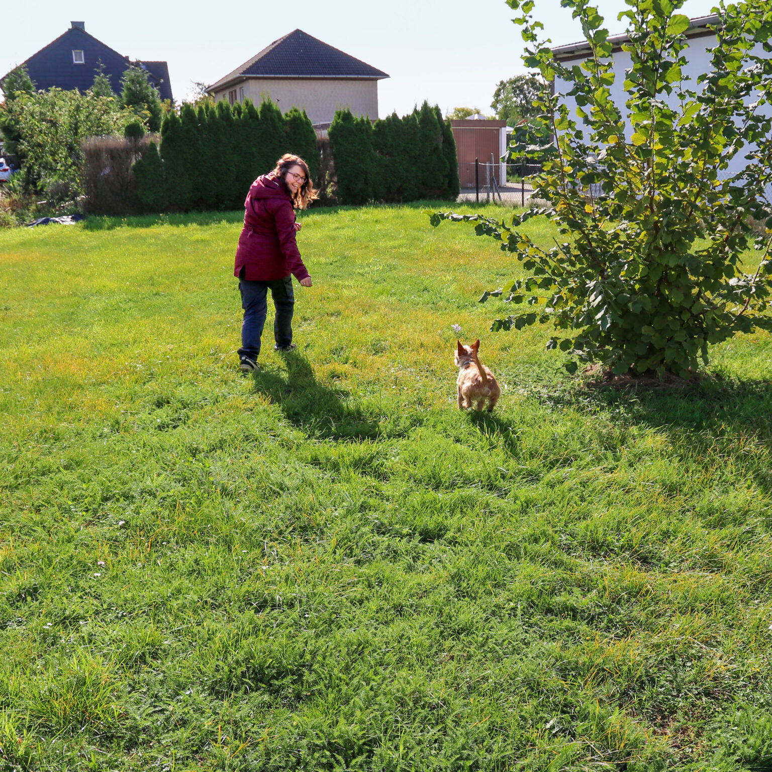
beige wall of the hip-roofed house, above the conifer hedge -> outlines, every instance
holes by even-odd
[[[335,110],[346,107],[354,115],[378,118],[377,80],[249,78],[216,91],[215,101],[229,99],[229,92],[234,90],[238,102],[249,98],[259,105],[265,95],[278,102],[283,113],[290,107],[305,109],[312,124],[328,124]]]

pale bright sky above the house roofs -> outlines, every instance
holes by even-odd
[[[598,0],[611,34],[624,32],[622,0]],[[682,13],[708,15],[713,0],[686,0]],[[30,0],[3,9],[0,76],[69,29],[148,61],[166,60],[176,101],[192,83],[214,83],[270,42],[302,29],[389,74],[378,85],[378,113],[410,112],[424,100],[444,114],[454,107],[493,113],[499,80],[526,72],[514,12],[503,0],[225,0],[218,3],[110,0]],[[581,27],[560,0],[536,0],[533,10],[555,46],[582,39]]]

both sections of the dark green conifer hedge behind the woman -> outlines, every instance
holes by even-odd
[[[393,113],[374,124],[339,110],[329,137],[342,204],[459,195],[455,142],[438,107],[423,103],[405,117]],[[259,107],[221,101],[198,110],[185,103],[164,118],[160,147],[134,164],[137,198],[151,212],[238,209],[252,181],[284,153],[303,157],[317,178],[317,133],[305,110],[282,115],[269,100]]]

